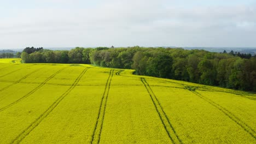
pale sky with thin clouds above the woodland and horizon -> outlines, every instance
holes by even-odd
[[[256,0],[0,0],[0,49],[256,47]]]

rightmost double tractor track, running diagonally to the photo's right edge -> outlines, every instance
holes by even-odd
[[[254,139],[256,139],[256,133],[255,130],[253,130],[249,125],[247,125],[245,122],[243,122],[240,118],[236,117],[233,113],[225,109],[224,107],[220,106],[219,104],[215,103],[209,98],[204,97],[198,92],[191,91],[194,94],[196,94],[201,99],[207,101],[212,106],[216,107],[218,110],[222,111],[226,116],[228,116],[232,121],[234,121],[236,124],[240,125],[240,127],[245,130],[249,135],[251,135]]]

